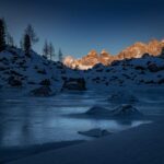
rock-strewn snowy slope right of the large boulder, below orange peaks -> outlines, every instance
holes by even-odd
[[[94,84],[103,87],[124,85],[145,85],[164,83],[164,59],[143,57],[115,61],[112,66],[97,65],[89,70],[86,78],[89,87]]]

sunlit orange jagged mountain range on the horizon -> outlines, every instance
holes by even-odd
[[[127,47],[118,55],[110,55],[106,50],[102,50],[101,54],[98,54],[96,50],[91,50],[81,59],[75,59],[72,56],[67,56],[63,59],[63,65],[72,69],[87,70],[93,68],[97,63],[108,66],[115,60],[141,58],[145,54],[157,56],[161,54],[163,48],[164,40],[152,39],[148,44],[138,42],[132,46]]]

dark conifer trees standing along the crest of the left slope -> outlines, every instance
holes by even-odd
[[[24,34],[20,40],[20,48],[24,50],[27,57],[31,57],[31,50],[33,45],[38,43],[39,38],[37,37],[34,27],[28,24],[24,30]],[[0,19],[0,51],[4,50],[7,46],[16,47],[14,38],[8,32],[8,27],[4,19]],[[51,42],[45,40],[43,47],[43,56],[49,60],[54,60],[58,56],[58,60],[62,61],[62,51],[59,49],[58,55],[55,54],[55,48]]]

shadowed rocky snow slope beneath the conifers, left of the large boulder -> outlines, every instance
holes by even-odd
[[[49,85],[54,92],[60,91],[65,69],[62,63],[49,61],[34,51],[28,58],[21,49],[9,48],[0,52],[0,86],[21,86],[28,91]]]

